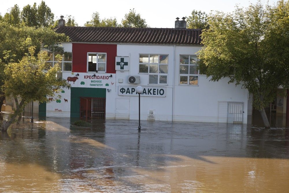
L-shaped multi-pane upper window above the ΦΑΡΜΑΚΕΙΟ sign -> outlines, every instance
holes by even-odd
[[[149,74],[149,84],[168,84],[168,55],[140,54],[138,72]]]

